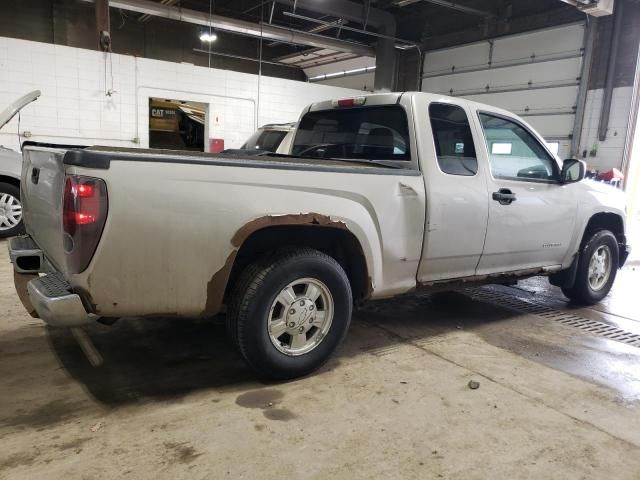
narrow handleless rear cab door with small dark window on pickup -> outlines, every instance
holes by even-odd
[[[482,137],[465,103],[443,98],[415,108],[427,222],[418,283],[475,274],[487,229],[487,166],[478,161]]]

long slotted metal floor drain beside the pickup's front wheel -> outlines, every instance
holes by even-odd
[[[475,300],[510,308],[511,310],[515,310],[520,313],[538,315],[569,327],[579,328],[592,335],[598,335],[600,337],[608,338],[609,340],[615,340],[616,342],[626,343],[627,345],[640,348],[640,335],[622,330],[621,328],[614,327],[608,323],[600,322],[598,320],[590,320],[576,315],[575,313],[555,310],[520,297],[514,297],[494,290],[468,288],[465,290],[465,293]]]

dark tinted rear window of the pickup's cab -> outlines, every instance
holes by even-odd
[[[410,161],[409,127],[398,105],[337,108],[302,117],[293,155]]]

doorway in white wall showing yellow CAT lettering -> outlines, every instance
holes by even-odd
[[[149,148],[204,152],[207,104],[149,98]]]

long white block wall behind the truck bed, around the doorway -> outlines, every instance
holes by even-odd
[[[110,66],[116,93],[107,97]],[[209,137],[237,148],[256,125],[295,121],[309,103],[354,94],[263,76],[257,113],[257,75],[115,54],[105,63],[93,50],[0,37],[0,109],[35,89],[42,96],[20,124],[31,140],[139,147],[149,142],[149,97],[206,103]],[[16,118],[0,131],[0,144],[17,149],[17,130]]]

